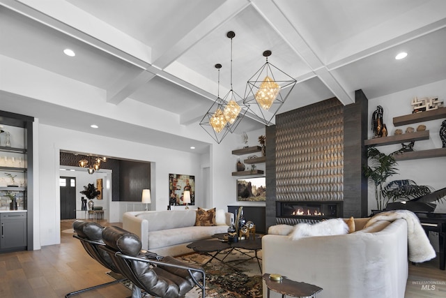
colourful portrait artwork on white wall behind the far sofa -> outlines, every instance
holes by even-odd
[[[195,176],[185,174],[169,174],[169,204],[185,205],[184,191],[190,191],[190,205],[195,204]]]

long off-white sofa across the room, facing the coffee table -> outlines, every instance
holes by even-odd
[[[187,244],[228,231],[233,214],[215,212],[217,225],[195,226],[197,209],[169,211],[130,211],[123,214],[123,229],[141,239],[142,248],[159,255],[183,255],[192,252]]]

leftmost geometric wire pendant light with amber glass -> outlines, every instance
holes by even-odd
[[[210,106],[208,112],[200,121],[200,126],[210,135],[217,144],[220,144],[224,137],[229,133],[228,121],[224,117],[224,108],[226,102],[220,98],[220,68],[222,64],[215,64],[218,70],[218,90],[217,99],[213,105]]]

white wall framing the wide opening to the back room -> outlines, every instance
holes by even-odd
[[[40,231],[40,239],[38,239],[40,241],[36,240],[35,249],[40,246],[60,243],[59,151],[61,149],[154,163],[155,171],[151,173],[153,179],[151,184],[153,204],[151,207],[156,206],[160,209],[167,208],[167,204],[169,204],[169,173],[194,175],[198,184],[197,202],[201,204],[203,188],[200,185],[202,179],[201,156],[199,154],[79,133],[43,124],[38,126],[38,135],[40,167],[36,172],[40,180],[40,192],[38,198],[35,198],[35,203],[39,209],[39,212],[36,213],[39,219],[34,229]],[[227,173],[217,173],[216,177],[221,181],[224,180],[221,178],[224,175]],[[121,203],[123,202],[116,202],[119,206],[110,208],[120,209],[127,206],[127,204]],[[110,214],[110,216],[111,220],[116,218],[116,214]],[[119,216],[122,218],[121,213]]]

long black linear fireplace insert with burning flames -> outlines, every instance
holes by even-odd
[[[343,215],[342,201],[276,201],[278,223],[316,222]]]

